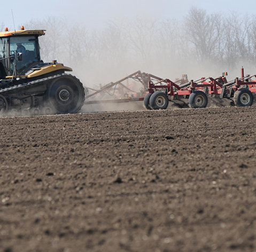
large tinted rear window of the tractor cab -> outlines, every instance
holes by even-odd
[[[18,61],[16,67],[20,74],[34,62],[40,60],[37,40],[34,36],[10,37],[10,55],[14,55],[15,51],[22,52],[22,61]],[[13,68],[14,65],[11,63],[11,74],[13,73]]]

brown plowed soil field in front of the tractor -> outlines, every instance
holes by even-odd
[[[256,250],[255,118],[1,118],[0,251]]]

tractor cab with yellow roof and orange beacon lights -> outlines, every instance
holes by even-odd
[[[0,78],[12,76],[16,70],[24,75],[30,68],[40,62],[38,36],[44,35],[44,30],[9,31],[5,28],[0,33]],[[22,53],[22,60],[15,62],[17,53]]]

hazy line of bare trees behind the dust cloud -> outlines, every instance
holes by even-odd
[[[232,72],[241,64],[253,70],[256,62],[256,18],[237,13],[193,7],[181,20],[119,18],[94,30],[48,17],[31,20],[25,28],[46,29],[40,38],[41,58],[71,66],[86,85],[115,81],[138,69],[170,78]]]

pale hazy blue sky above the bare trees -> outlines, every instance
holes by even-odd
[[[49,16],[64,17],[65,20],[73,23],[80,22],[86,28],[98,28],[115,18],[146,16],[180,19],[184,18],[192,6],[205,9],[209,13],[237,12],[254,15],[256,9],[255,0],[242,2],[237,0],[13,0],[2,2],[1,9],[4,11],[1,13],[0,22],[3,22],[9,30],[13,29],[11,10],[16,28],[31,19],[43,19]]]

